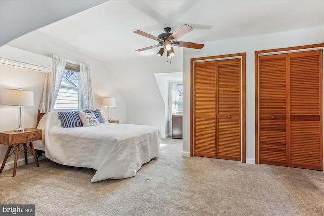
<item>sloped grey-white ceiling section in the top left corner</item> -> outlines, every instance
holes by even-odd
[[[1,0],[0,46],[28,32],[106,1]]]

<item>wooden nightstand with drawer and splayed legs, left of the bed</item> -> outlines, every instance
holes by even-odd
[[[0,143],[4,145],[8,145],[7,153],[5,155],[4,161],[2,162],[2,166],[0,169],[0,173],[5,167],[6,161],[8,157],[10,157],[12,154],[15,154],[15,162],[14,162],[14,175],[16,176],[16,169],[17,169],[17,160],[18,160],[18,152],[24,152],[25,154],[25,163],[28,164],[28,156],[27,152],[32,153],[35,159],[35,163],[37,167],[39,166],[34,146],[32,145],[33,141],[36,140],[42,140],[42,130],[41,129],[34,129],[34,128],[26,128],[25,132],[15,132],[15,131],[3,131],[0,132]],[[29,145],[27,146],[27,143],[29,142]],[[19,144],[23,144],[22,146],[24,149],[22,150],[21,147],[19,147]],[[16,146],[13,148],[13,146]],[[13,150],[13,152],[9,155],[10,151]]]

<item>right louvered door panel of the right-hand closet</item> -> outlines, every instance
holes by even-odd
[[[289,54],[289,166],[323,170],[322,56],[320,50]]]

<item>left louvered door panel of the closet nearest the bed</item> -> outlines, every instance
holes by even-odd
[[[194,71],[194,155],[215,158],[215,62],[197,62]]]

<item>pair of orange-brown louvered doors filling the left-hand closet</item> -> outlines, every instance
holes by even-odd
[[[241,160],[241,59],[194,64],[194,155]]]

